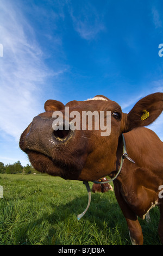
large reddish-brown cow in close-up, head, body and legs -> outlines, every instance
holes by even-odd
[[[101,130],[53,129],[53,112],[63,114],[62,127],[67,124],[65,107],[70,113],[83,111],[110,114],[111,132],[101,136]],[[138,217],[144,218],[153,206],[160,209],[158,233],[163,243],[163,143],[145,126],[153,123],[163,110],[163,93],[149,94],[137,101],[130,112],[103,95],[85,101],[57,100],[45,102],[45,112],[34,117],[21,135],[20,148],[28,154],[33,167],[63,179],[95,181],[109,175],[114,178],[122,162],[124,142],[128,156],[114,182],[118,204],[126,218],[133,245],[143,244]],[[70,117],[70,123],[72,117]],[[81,124],[82,125],[82,124]]]

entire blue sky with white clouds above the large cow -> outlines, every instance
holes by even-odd
[[[0,162],[28,158],[21,133],[48,99],[102,94],[128,113],[163,92],[163,1],[1,0]],[[163,118],[149,126],[163,141]]]

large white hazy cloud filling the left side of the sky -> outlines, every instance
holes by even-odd
[[[43,62],[33,28],[11,3],[0,2],[0,129],[18,141],[27,124],[40,112],[41,85],[54,74]]]

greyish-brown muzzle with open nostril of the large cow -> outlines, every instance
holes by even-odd
[[[28,154],[28,151],[37,151],[51,156],[52,149],[66,143],[74,131],[69,128],[65,130],[65,121],[53,129],[54,118],[37,116],[24,131],[20,139],[20,148]],[[62,129],[60,129],[62,127]]]

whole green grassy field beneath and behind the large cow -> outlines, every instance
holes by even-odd
[[[114,192],[92,193],[87,205],[81,181],[48,175],[0,174],[0,245],[130,245],[126,220]],[[92,183],[90,182],[92,187]],[[159,209],[140,220],[145,245],[160,245]]]

